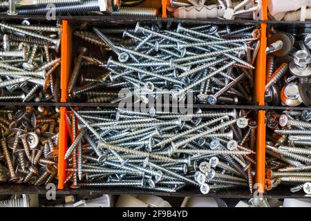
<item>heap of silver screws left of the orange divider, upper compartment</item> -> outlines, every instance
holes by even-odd
[[[61,28],[0,23],[0,102],[59,102]]]

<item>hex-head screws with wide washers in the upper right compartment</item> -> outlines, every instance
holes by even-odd
[[[268,40],[265,102],[271,106],[311,106],[311,35],[276,32]]]

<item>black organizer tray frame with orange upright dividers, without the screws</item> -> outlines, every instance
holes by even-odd
[[[165,8],[166,0],[162,0],[163,8]],[[75,48],[75,42],[72,41],[72,30],[81,23],[91,23],[92,25],[102,25],[103,23],[108,23],[109,26],[129,26],[135,25],[137,21],[141,23],[158,23],[159,25],[164,24],[171,24],[171,23],[187,23],[188,25],[191,24],[204,24],[204,23],[220,23],[220,24],[257,24],[261,27],[261,48],[258,52],[258,57],[256,61],[256,75],[255,75],[255,88],[254,88],[254,100],[257,102],[257,106],[226,106],[225,108],[249,108],[249,109],[256,109],[258,111],[258,133],[257,133],[257,140],[256,140],[256,182],[259,183],[258,192],[264,192],[265,186],[265,112],[268,109],[288,109],[286,107],[270,107],[265,106],[265,66],[266,66],[266,55],[265,55],[265,48],[267,46],[267,26],[283,26],[283,28],[293,26],[297,27],[305,27],[308,26],[310,23],[302,23],[302,22],[285,22],[285,21],[267,21],[267,1],[263,0],[263,8],[262,8],[262,20],[261,21],[243,21],[243,20],[216,20],[211,19],[208,21],[194,21],[190,19],[166,19],[165,12],[163,13],[163,18],[126,18],[126,17],[58,17],[62,21],[62,79],[61,79],[61,89],[62,89],[62,104],[45,104],[45,105],[56,105],[61,106],[60,108],[60,124],[59,124],[59,164],[58,164],[58,173],[59,173],[59,193],[80,193],[83,191],[88,191],[88,189],[70,189],[68,190],[66,186],[63,185],[64,180],[66,179],[66,162],[64,159],[64,154],[66,153],[66,148],[68,147],[68,133],[66,128],[66,107],[67,106],[106,106],[112,107],[111,104],[77,104],[77,103],[68,103],[67,102],[67,84],[68,84],[68,77],[70,75],[71,64],[72,64],[72,56],[73,56],[73,48]],[[23,17],[12,17],[12,21],[21,21]],[[44,21],[44,17],[30,17],[34,20]],[[2,17],[2,19],[8,19],[8,17]],[[8,103],[0,105],[16,105],[15,103]],[[35,104],[40,105],[40,104]],[[205,106],[201,105],[202,108],[223,108],[222,106]],[[293,110],[309,110],[310,108],[290,108]],[[12,193],[45,193],[43,187],[33,187],[33,186],[12,186],[10,184],[0,184],[0,193],[5,191],[12,191]],[[115,190],[115,189],[92,189],[91,191],[99,191],[104,193],[129,193],[126,189]],[[140,191],[131,189],[132,193],[141,193]],[[158,193],[153,191],[144,191],[145,194],[157,194],[157,195],[200,195],[198,192],[193,191],[182,191],[173,194],[167,193]],[[246,191],[240,190],[233,190],[233,191],[225,191],[219,192],[214,194],[209,194],[208,196],[217,196],[220,198],[250,198],[252,195]],[[267,198],[285,198],[288,197],[292,198],[299,198],[301,195],[299,194],[291,194],[288,190],[275,190],[273,192],[265,192],[265,196]]]

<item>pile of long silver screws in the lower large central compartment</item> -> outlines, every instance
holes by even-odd
[[[256,122],[252,111],[170,114],[116,110],[67,113],[72,188],[127,187],[204,194],[253,191]]]

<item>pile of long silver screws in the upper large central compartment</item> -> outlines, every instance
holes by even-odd
[[[75,32],[75,36],[100,46],[104,52],[79,48],[68,86],[72,99],[115,103],[137,95],[140,102],[145,102],[146,93],[153,97],[164,93],[185,97],[193,92],[200,104],[246,104],[252,100],[253,65],[260,45],[260,30],[254,26],[185,28],[179,23],[176,30],[160,30],[137,23],[135,30],[94,27],[93,31]],[[126,44],[115,35],[111,37],[117,32],[123,32]],[[113,51],[112,57],[107,57],[106,48]],[[108,73],[104,69],[104,74],[98,68],[84,69],[83,65],[102,66]],[[80,86],[79,74],[84,76]],[[131,93],[117,97],[112,88],[127,88]]]

